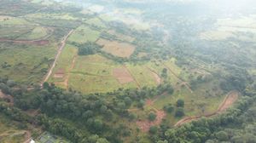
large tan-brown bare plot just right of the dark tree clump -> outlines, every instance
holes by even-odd
[[[129,43],[119,43],[102,38],[97,43],[104,46],[102,49],[104,52],[123,58],[129,58],[135,50],[135,47]]]

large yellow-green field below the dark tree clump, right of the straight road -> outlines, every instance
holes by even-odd
[[[116,77],[116,70],[120,67],[112,60],[98,54],[79,56],[71,72],[69,85],[73,89],[84,93],[108,92],[119,88],[136,88],[134,82],[127,83],[127,81],[123,81],[123,77]],[[125,78],[127,80],[127,77]],[[119,83],[120,81],[123,83]]]

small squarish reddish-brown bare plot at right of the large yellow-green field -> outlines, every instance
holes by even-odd
[[[128,72],[124,67],[113,69],[113,76],[116,77],[121,84],[131,83],[134,81],[130,72]]]

